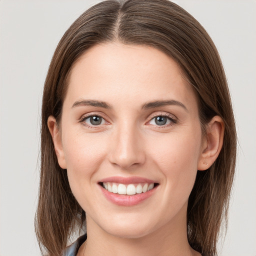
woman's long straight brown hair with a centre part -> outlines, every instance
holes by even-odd
[[[204,28],[168,0],[107,0],[78,17],[53,54],[41,112],[41,172],[35,230],[41,250],[60,255],[85,214],[60,168],[47,118],[61,118],[67,76],[77,58],[95,44],[118,40],[155,47],[173,58],[198,99],[202,131],[214,116],[225,124],[223,147],[214,164],[198,171],[187,208],[187,237],[203,255],[216,255],[222,220],[226,221],[236,157],[236,132],[227,82],[218,52]],[[226,223],[224,221],[224,223]]]

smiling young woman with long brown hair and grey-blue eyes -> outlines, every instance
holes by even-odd
[[[42,101],[49,255],[216,255],[235,165],[224,71],[167,0],[103,1],[65,32]],[[66,248],[75,232],[86,235]]]

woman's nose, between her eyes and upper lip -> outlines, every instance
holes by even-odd
[[[139,131],[132,125],[119,125],[114,131],[109,161],[122,169],[140,166],[145,162],[144,144]]]

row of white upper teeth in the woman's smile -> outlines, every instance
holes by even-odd
[[[154,183],[120,184],[114,182],[103,182],[103,187],[112,193],[118,194],[140,194],[154,187]]]

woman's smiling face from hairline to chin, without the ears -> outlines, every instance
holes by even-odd
[[[105,43],[75,62],[58,162],[87,223],[142,237],[186,227],[203,141],[195,94],[161,51]]]

